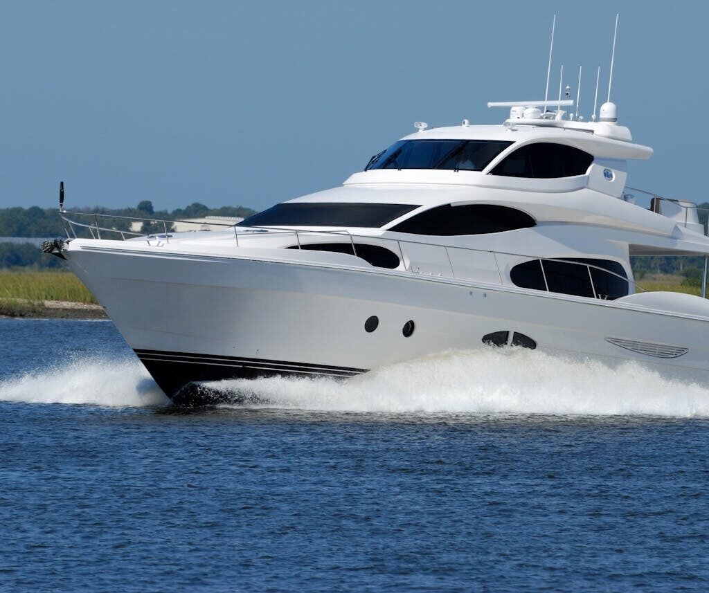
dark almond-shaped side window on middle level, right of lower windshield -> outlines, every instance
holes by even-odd
[[[447,204],[399,222],[391,230],[415,235],[482,235],[534,225],[534,218],[515,208],[491,204]]]

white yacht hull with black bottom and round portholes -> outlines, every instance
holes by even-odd
[[[213,392],[199,388],[204,381],[343,378],[489,347],[486,337],[501,332],[507,342],[519,335],[544,351],[708,378],[709,320],[697,317],[411,272],[156,251],[83,240],[66,256],[178,402],[213,401]]]

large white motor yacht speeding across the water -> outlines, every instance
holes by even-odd
[[[652,149],[613,103],[587,122],[551,103],[496,104],[501,125],[416,123],[342,186],[220,231],[127,238],[60,207],[68,238],[46,250],[176,402],[215,401],[214,380],[503,346],[709,383],[709,301],[642,292],[630,266],[707,256],[696,205],[638,203],[626,163]]]

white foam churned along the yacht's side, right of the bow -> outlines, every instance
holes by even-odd
[[[523,349],[450,352],[346,382],[265,378],[210,385],[245,396],[249,405],[305,410],[709,417],[709,389],[700,385],[661,378],[637,363],[610,368]]]

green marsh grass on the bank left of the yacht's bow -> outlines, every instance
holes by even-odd
[[[0,302],[8,305],[9,299],[21,299],[28,307],[43,300],[96,303],[94,295],[70,272],[0,271]]]

